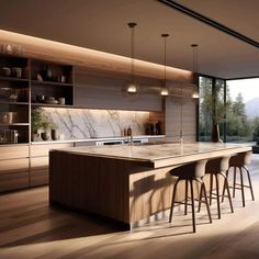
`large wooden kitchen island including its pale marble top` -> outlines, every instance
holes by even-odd
[[[248,150],[249,145],[221,143],[50,150],[49,203],[112,218],[131,228],[170,207],[172,168]]]

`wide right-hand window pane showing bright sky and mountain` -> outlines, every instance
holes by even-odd
[[[227,80],[226,140],[254,142],[259,137],[259,78]]]

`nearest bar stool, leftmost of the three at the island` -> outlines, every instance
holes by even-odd
[[[169,173],[172,177],[178,177],[176,184],[173,185],[173,191],[172,191],[172,200],[171,200],[171,210],[170,210],[170,216],[169,216],[169,223],[171,223],[172,221],[172,214],[173,214],[173,207],[174,204],[184,204],[184,215],[187,215],[187,206],[190,205],[192,207],[192,227],[193,227],[193,232],[196,232],[196,227],[195,227],[195,212],[194,212],[194,194],[193,194],[193,181],[199,182],[201,184],[201,189],[200,189],[200,193],[203,192],[203,195],[199,195],[200,196],[200,203],[203,202],[206,204],[206,210],[207,210],[207,215],[210,218],[210,223],[212,223],[212,217],[211,217],[211,211],[210,211],[210,206],[207,203],[207,198],[206,198],[206,188],[205,184],[202,180],[203,176],[205,174],[205,165],[206,165],[206,160],[199,160],[199,161],[194,161],[194,162],[190,162],[183,166],[180,166],[178,168],[174,168],[172,170],[169,171]],[[177,193],[177,188],[180,181],[185,181],[185,198],[184,198],[184,202],[182,201],[176,201],[176,193]],[[188,203],[189,196],[188,196],[188,188],[190,183],[190,189],[191,189],[191,204]],[[201,198],[204,196],[204,201],[201,200]]]

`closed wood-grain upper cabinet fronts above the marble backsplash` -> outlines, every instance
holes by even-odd
[[[91,109],[114,109],[136,111],[161,111],[159,92],[154,94],[150,87],[159,86],[155,79],[139,78],[139,94],[130,95],[125,91],[128,76],[114,74],[91,74],[86,69],[75,69],[75,105]]]

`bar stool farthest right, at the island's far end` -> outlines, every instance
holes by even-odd
[[[249,170],[247,168],[247,165],[250,164],[250,160],[251,160],[251,151],[239,153],[236,156],[230,158],[229,168],[226,172],[226,176],[228,177],[229,169],[232,167],[234,167],[234,181],[233,181],[233,185],[229,188],[233,188],[233,198],[235,198],[236,190],[241,191],[243,206],[246,205],[245,204],[245,188],[250,189],[251,199],[252,199],[252,201],[255,201],[252,185],[251,185],[251,178],[250,178]],[[240,183],[237,183],[237,181],[236,181],[237,168],[239,169]],[[245,171],[247,172],[248,185],[244,184],[243,169],[245,169]],[[225,192],[225,187],[224,187],[223,193],[224,192]],[[222,199],[224,200],[224,196]]]

